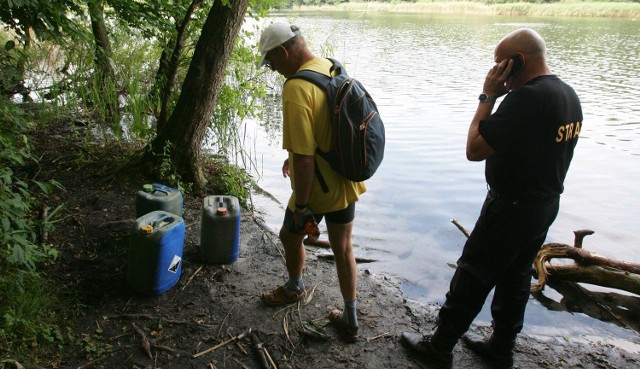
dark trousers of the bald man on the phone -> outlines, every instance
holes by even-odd
[[[453,348],[493,288],[494,334],[515,339],[529,300],[532,264],[559,204],[559,197],[521,201],[489,191],[438,315],[439,336],[449,338],[444,346]]]

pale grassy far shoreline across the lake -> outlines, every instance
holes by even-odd
[[[469,14],[532,17],[624,18],[640,20],[640,3],[629,2],[558,2],[485,4],[472,1],[423,2],[347,2],[336,5],[294,5],[299,12],[377,12],[418,14]]]

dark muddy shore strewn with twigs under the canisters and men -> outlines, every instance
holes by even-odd
[[[135,171],[115,171],[117,148],[87,150],[72,137],[68,128],[34,137],[41,156],[37,179],[56,179],[65,187],[45,204],[64,204],[63,221],[48,235],[62,255],[47,273],[83,304],[74,343],[41,367],[269,367],[264,361],[277,368],[430,367],[402,347],[399,334],[429,332],[438,307],[407,300],[397,281],[370,273],[366,264],[358,267],[361,329],[355,344],[341,342],[328,325],[328,312],[342,308],[342,299],[333,263],[317,256],[326,250],[308,248],[305,282],[311,292],[305,303],[262,305],[259,295],[283,283],[286,273],[277,236],[255,213],[245,210],[241,217],[236,263],[203,264],[202,197],[185,198],[179,281],[160,296],[133,293],[126,278],[129,232],[136,192],[150,180]],[[249,330],[251,335],[238,338]],[[541,342],[523,335],[515,361],[517,368],[637,368],[639,356],[608,345],[570,344],[562,337]],[[455,349],[454,367],[488,368],[462,344]]]

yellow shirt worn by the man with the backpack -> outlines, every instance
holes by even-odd
[[[329,75],[331,62],[325,58],[315,58],[300,67]],[[309,208],[317,214],[324,214],[345,209],[350,203],[366,192],[364,182],[352,182],[336,173],[316,148],[329,151],[331,148],[331,117],[324,91],[311,82],[302,79],[287,81],[282,91],[283,100],[283,139],[282,148],[289,152],[289,171],[291,189],[288,207],[295,208],[295,189],[293,186],[295,173],[293,169],[293,153],[314,155],[320,173],[329,188],[328,193],[322,191],[320,182],[314,178],[309,196]]]

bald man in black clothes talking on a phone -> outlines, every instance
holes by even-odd
[[[445,367],[452,365],[460,337],[493,367],[513,367],[531,266],[558,214],[582,129],[580,100],[551,74],[537,32],[525,28],[508,34],[494,56],[466,150],[469,160],[486,160],[489,192],[458,260],[437,329],[425,336],[402,334],[406,346]],[[505,94],[492,114],[496,99]],[[494,287],[493,334],[488,340],[465,334]]]

